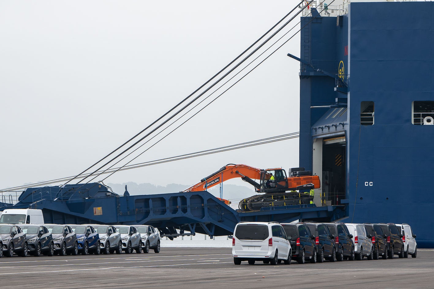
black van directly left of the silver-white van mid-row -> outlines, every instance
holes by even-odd
[[[349,233],[344,223],[324,223],[330,230],[330,234],[335,236],[336,260],[343,261],[344,258],[354,260],[354,243],[352,235]]]

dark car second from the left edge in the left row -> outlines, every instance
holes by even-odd
[[[39,257],[41,253],[47,256],[54,254],[53,236],[45,226],[21,224],[18,225],[27,237],[27,250],[30,255]]]

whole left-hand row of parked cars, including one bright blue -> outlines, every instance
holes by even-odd
[[[160,234],[146,225],[0,224],[0,246],[0,257],[159,253]]]

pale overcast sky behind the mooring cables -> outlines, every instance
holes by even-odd
[[[1,1],[0,189],[78,174],[197,89],[297,3]],[[297,34],[133,163],[299,131],[299,63],[286,56],[299,51]],[[299,165],[298,147],[292,139],[118,172],[105,182],[192,185],[228,163],[287,170]]]

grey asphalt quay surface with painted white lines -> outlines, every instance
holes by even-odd
[[[434,288],[434,250],[417,258],[272,266],[233,264],[230,248],[161,248],[160,253],[3,257],[0,288]],[[360,287],[362,286],[362,287]],[[233,287],[229,287],[233,288]],[[350,287],[349,287],[350,288]]]

